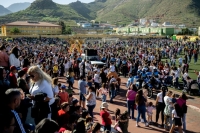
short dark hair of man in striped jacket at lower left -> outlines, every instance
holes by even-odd
[[[16,100],[16,97],[20,96],[21,93],[18,89],[8,89],[6,92],[6,102],[9,104],[9,103],[12,103]]]

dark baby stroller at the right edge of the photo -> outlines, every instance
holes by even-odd
[[[189,86],[186,89],[187,93],[189,95],[198,95],[199,93],[199,84],[196,80],[191,81],[191,83],[189,83]]]

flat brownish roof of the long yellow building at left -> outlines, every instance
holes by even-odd
[[[37,21],[16,21],[12,23],[5,24],[6,26],[50,26],[50,27],[60,27],[60,25],[51,24],[47,22],[37,22]]]

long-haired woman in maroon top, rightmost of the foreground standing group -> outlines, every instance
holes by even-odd
[[[182,93],[180,97],[176,100],[176,103],[179,105],[179,107],[182,109],[183,116],[181,117],[182,119],[182,124],[183,124],[183,131],[186,132],[186,114],[187,114],[187,101],[188,97],[186,96],[185,93]]]

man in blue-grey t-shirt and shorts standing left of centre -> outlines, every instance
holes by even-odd
[[[86,87],[88,87],[84,76],[81,76],[78,81],[78,89],[79,89],[79,102],[80,106],[85,109],[85,94],[86,94]]]

